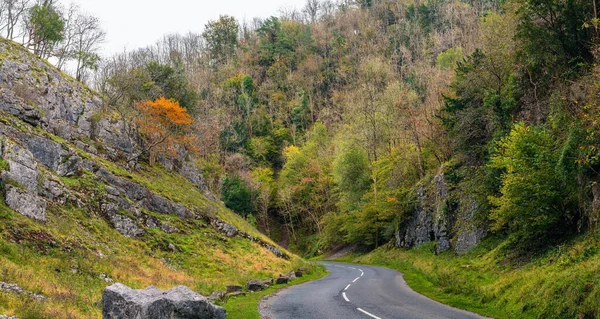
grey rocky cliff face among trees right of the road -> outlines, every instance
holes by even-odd
[[[433,186],[417,189],[417,204],[411,216],[398,227],[395,245],[418,247],[434,242],[436,253],[450,249],[464,254],[477,246],[486,235],[485,225],[476,221],[477,202],[451,199],[444,174],[433,179]]]

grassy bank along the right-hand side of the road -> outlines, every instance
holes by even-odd
[[[488,239],[464,256],[433,246],[380,248],[345,261],[397,269],[416,291],[494,318],[600,317],[599,235],[578,238],[528,262],[510,262],[504,243]]]

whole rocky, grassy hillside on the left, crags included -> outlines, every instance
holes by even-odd
[[[127,163],[138,145],[125,124],[0,39],[0,281],[43,296],[0,289],[0,314],[99,318],[113,281],[209,295],[303,264],[211,199],[191,156]]]

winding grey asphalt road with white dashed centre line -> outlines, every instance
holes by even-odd
[[[263,319],[485,318],[414,292],[402,274],[381,267],[323,263],[331,273],[283,289],[260,303]]]

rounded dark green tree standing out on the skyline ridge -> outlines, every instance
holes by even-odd
[[[239,24],[230,16],[220,16],[219,20],[209,21],[204,26],[202,37],[215,67],[229,62],[235,56],[239,31]]]

